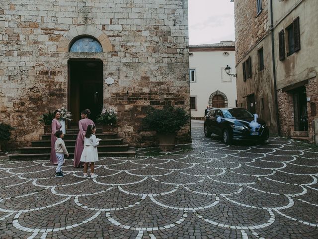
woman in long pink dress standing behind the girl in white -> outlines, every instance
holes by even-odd
[[[80,166],[80,156],[84,149],[84,137],[87,129],[87,125],[94,124],[93,120],[88,119],[87,117],[90,115],[90,110],[86,109],[80,113],[79,120],[79,134],[75,143],[74,150],[74,167],[78,168]]]

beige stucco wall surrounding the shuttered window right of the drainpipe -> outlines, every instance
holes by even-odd
[[[297,6],[297,3],[301,2]],[[295,6],[297,6],[295,8]],[[283,2],[275,2],[274,12],[276,13],[274,30],[275,43],[275,64],[277,72],[277,89],[301,82],[317,76],[318,72],[318,4],[315,0],[291,0]],[[277,7],[277,8],[276,8]],[[286,7],[286,9],[284,8]],[[282,9],[284,8],[284,10]],[[292,12],[288,13],[291,9]],[[282,61],[279,60],[279,41],[278,32],[288,27],[293,20],[299,16],[301,49],[294,54],[287,56]],[[287,35],[285,34],[285,44],[288,45]]]

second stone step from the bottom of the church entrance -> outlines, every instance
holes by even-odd
[[[97,147],[98,152],[117,152],[117,151],[127,151],[129,148],[128,144],[118,144],[118,145],[99,145]],[[69,153],[74,153],[75,146],[70,146],[67,148]],[[19,148],[21,154],[34,154],[34,153],[50,153],[51,147],[23,147]]]

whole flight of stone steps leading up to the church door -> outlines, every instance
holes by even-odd
[[[67,129],[64,135],[64,142],[70,154],[70,158],[74,158],[74,150],[76,138],[79,129]],[[135,156],[135,148],[129,147],[123,143],[123,138],[118,137],[114,132],[102,132],[102,129],[96,130],[96,137],[101,138],[98,145],[99,157],[111,156]],[[32,141],[31,147],[19,148],[19,154],[10,155],[10,160],[50,160],[51,152],[51,135],[41,135],[41,140]]]

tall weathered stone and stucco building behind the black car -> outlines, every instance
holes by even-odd
[[[317,26],[317,10],[315,0],[235,1],[238,104],[272,132],[310,142],[318,118],[318,33],[308,29]]]

